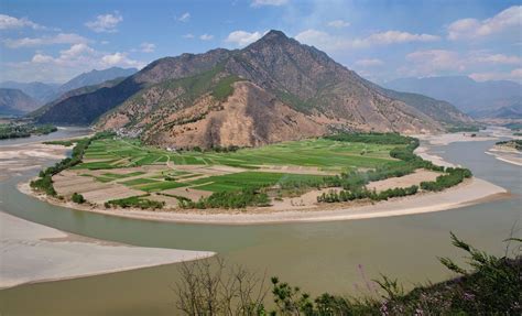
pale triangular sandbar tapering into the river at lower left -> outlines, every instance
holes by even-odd
[[[203,259],[214,252],[144,248],[68,235],[0,211],[0,288]]]

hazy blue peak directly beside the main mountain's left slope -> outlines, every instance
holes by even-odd
[[[62,95],[67,91],[86,87],[86,86],[94,86],[99,85],[107,80],[112,80],[120,77],[128,77],[138,72],[137,68],[120,68],[120,67],[111,67],[104,70],[90,70],[88,73],[83,73],[74,77],[73,79],[68,80],[67,83],[59,86],[57,94]]]

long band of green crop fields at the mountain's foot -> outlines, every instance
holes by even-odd
[[[113,168],[150,164],[228,165],[254,168],[260,165],[315,166],[319,170],[348,171],[376,167],[390,162],[396,145],[346,143],[325,139],[284,142],[230,153],[167,152],[143,146],[135,140],[102,139],[94,141],[85,154],[86,162],[75,168]]]

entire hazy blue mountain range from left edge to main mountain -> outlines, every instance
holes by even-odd
[[[0,88],[7,89],[18,89],[22,91],[26,97],[32,99],[32,102],[36,106],[42,106],[53,100],[59,99],[62,95],[66,95],[70,90],[75,90],[78,88],[87,87],[87,86],[96,86],[100,85],[107,80],[113,80],[116,78],[128,77],[133,75],[138,69],[135,68],[119,68],[119,67],[111,67],[104,70],[91,70],[89,73],[84,73],[79,76],[74,77],[73,79],[68,80],[63,85],[58,84],[44,84],[44,83],[17,83],[17,81],[3,81],[0,83]],[[8,96],[3,96],[6,91],[0,90],[0,97],[3,97],[6,100],[17,100],[13,98],[8,98]],[[21,100],[21,99],[19,99]],[[25,102],[25,101],[24,101]],[[9,105],[12,109],[18,109],[19,106],[17,103]],[[28,112],[28,107],[23,108],[21,105],[18,109],[20,115]],[[32,111],[34,109],[31,109]]]

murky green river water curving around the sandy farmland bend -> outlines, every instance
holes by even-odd
[[[493,143],[454,143],[434,151],[452,162],[469,166],[477,176],[509,188],[515,196],[441,213],[258,226],[138,221],[68,210],[28,198],[18,193],[14,185],[30,174],[0,183],[0,207],[17,216],[85,236],[139,246],[218,251],[228,262],[279,275],[313,293],[354,293],[354,284],[363,282],[358,264],[363,266],[369,279],[385,273],[409,286],[450,275],[436,259],[461,254],[449,244],[449,231],[481,249],[502,253],[501,240],[521,219],[522,168],[483,154]],[[172,315],[174,293],[170,285],[175,280],[176,265],[172,264],[24,285],[1,291],[0,306],[2,312],[9,312],[8,315],[11,312]]]

